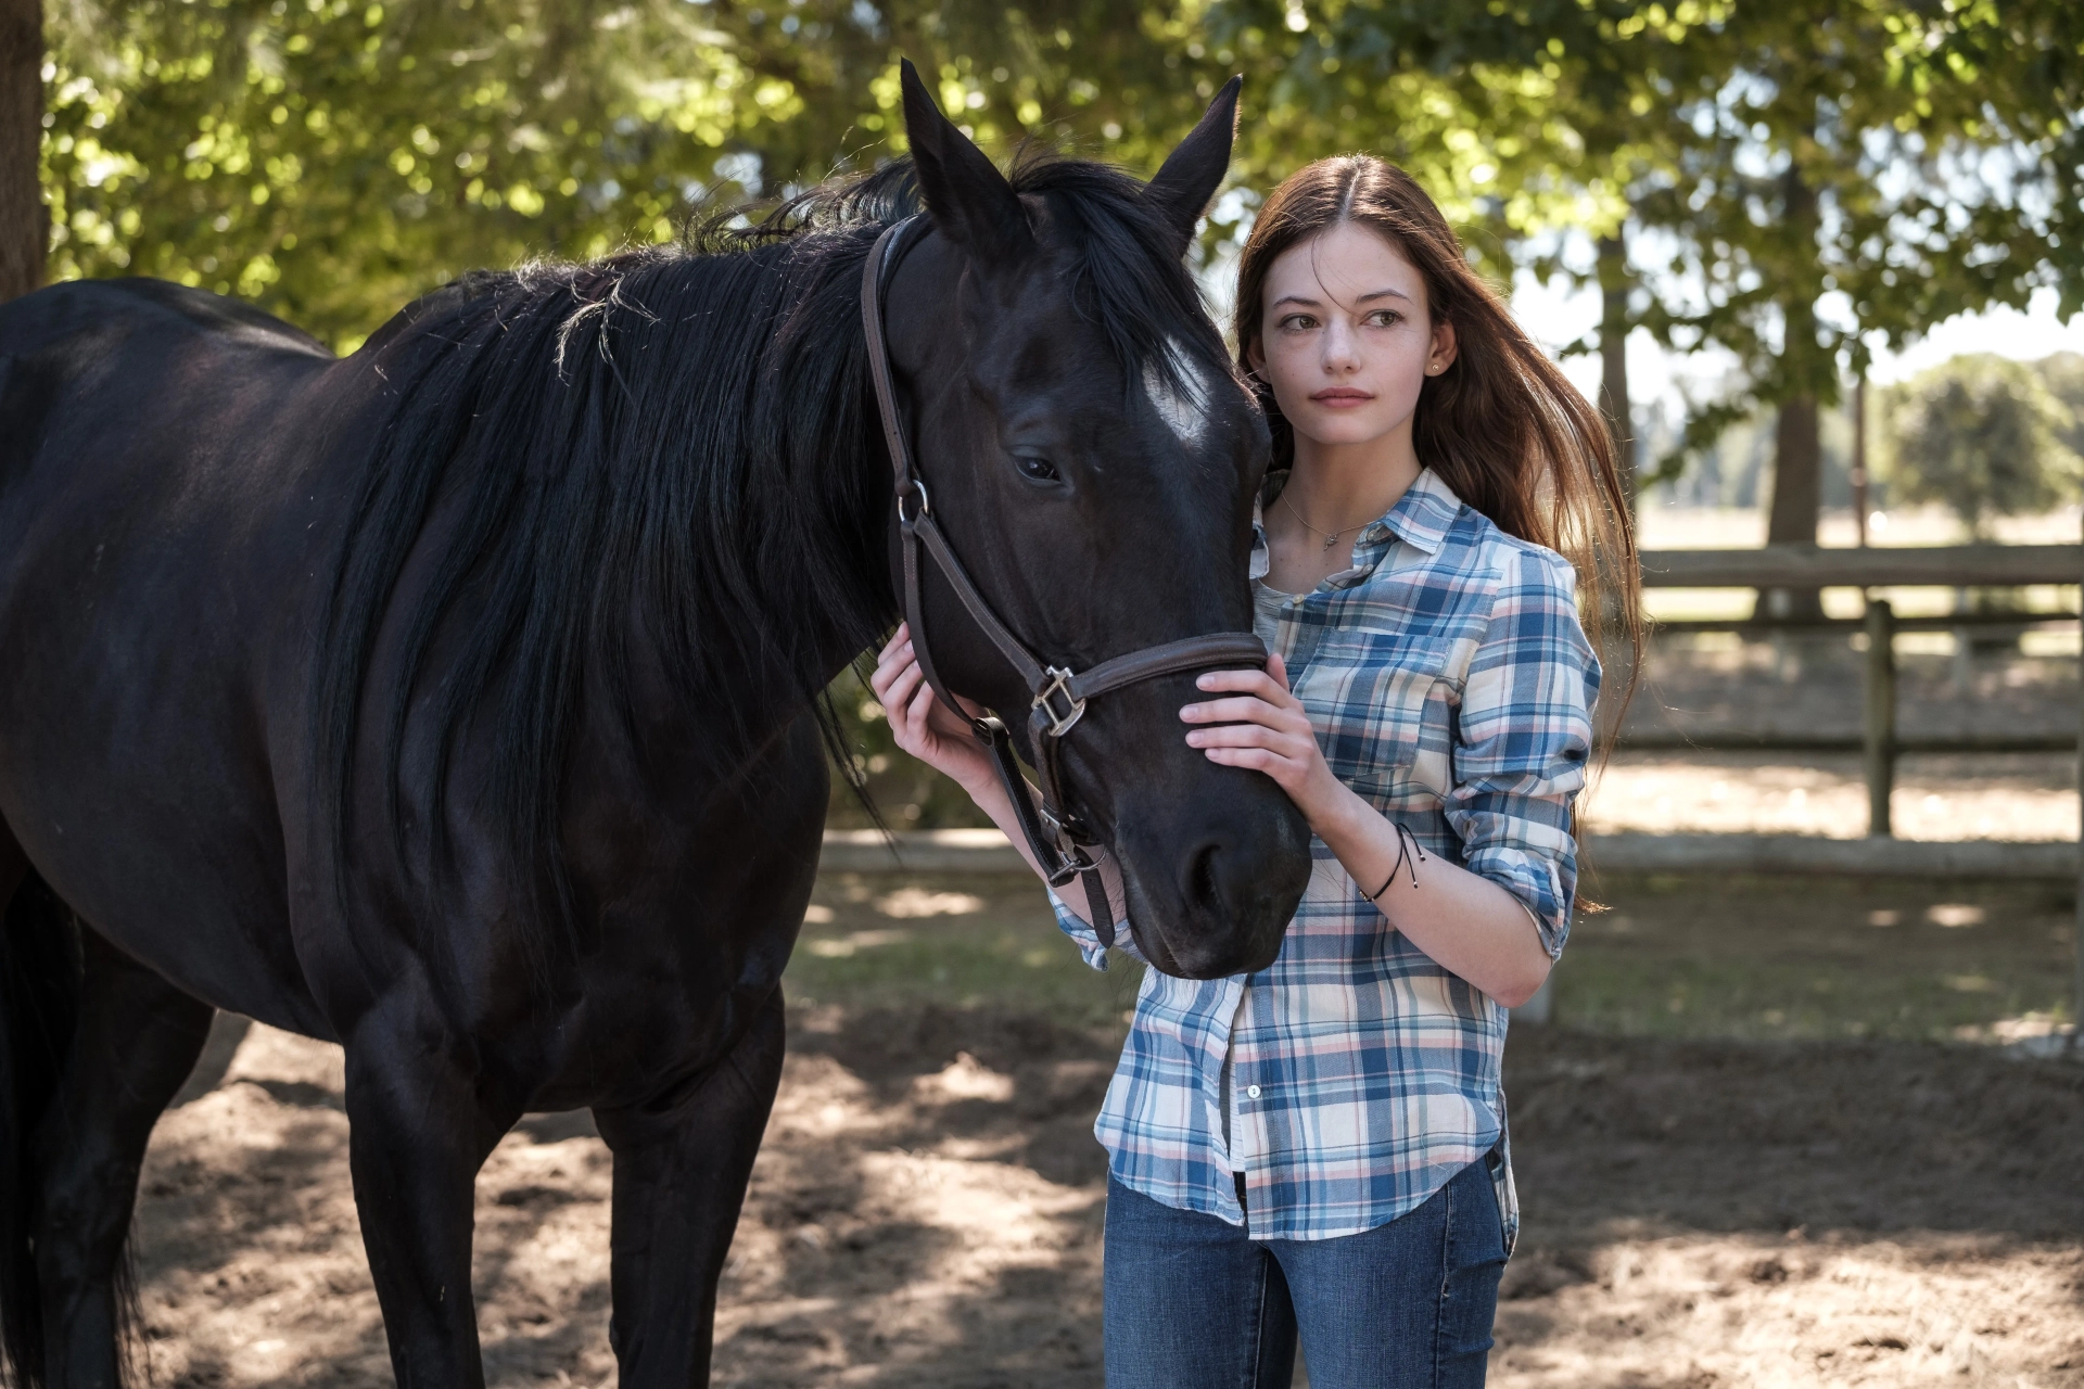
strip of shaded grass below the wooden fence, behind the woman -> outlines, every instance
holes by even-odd
[[[2007,1039],[2069,1016],[2071,900],[2046,885],[1605,877],[1557,966],[1584,1033]],[[1142,966],[1086,968],[1017,875],[825,875],[788,968],[802,1008],[1015,1008],[1119,1037]]]

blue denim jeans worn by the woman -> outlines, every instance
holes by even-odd
[[[1505,1272],[1488,1160],[1423,1206],[1340,1239],[1246,1239],[1217,1216],[1107,1183],[1109,1389],[1484,1383]]]

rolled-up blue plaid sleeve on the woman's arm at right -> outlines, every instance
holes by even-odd
[[[1548,958],[1563,954],[1578,895],[1571,804],[1596,698],[1576,573],[1548,550],[1515,548],[1469,660],[1446,820],[1463,864],[1525,904]]]

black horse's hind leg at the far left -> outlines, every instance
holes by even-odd
[[[160,1110],[202,1054],[215,1008],[92,929],[58,1093],[35,1135],[35,1277],[50,1389],[123,1381],[123,1241]]]

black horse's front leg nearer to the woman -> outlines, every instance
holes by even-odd
[[[615,1152],[609,1341],[621,1389],[709,1383],[717,1279],[782,1085],[782,989],[738,1045],[663,1106],[594,1110]]]

